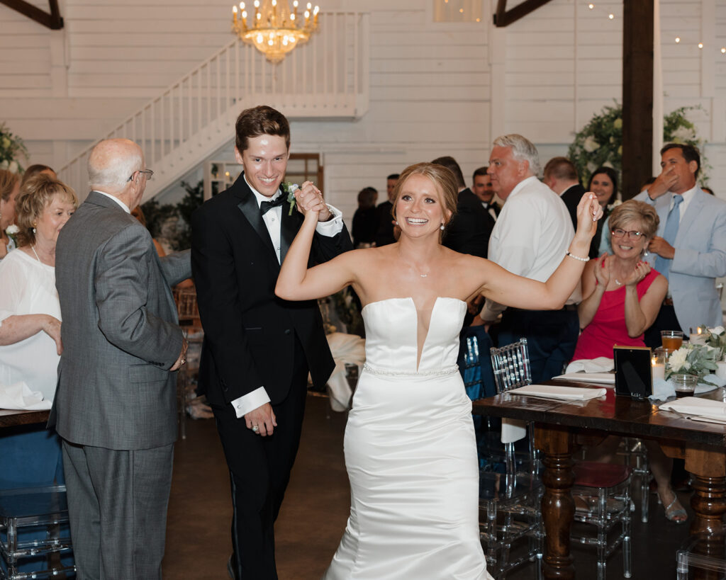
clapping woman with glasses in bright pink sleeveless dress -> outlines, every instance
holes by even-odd
[[[656,320],[668,291],[666,278],[643,261],[657,229],[656,210],[646,203],[631,199],[611,213],[613,254],[590,260],[582,273],[583,299],[577,309],[582,334],[573,360],[612,358],[616,344],[645,347],[643,332]],[[645,439],[644,443],[666,518],[685,522],[687,514],[670,483],[673,460],[657,442]],[[609,454],[617,444],[619,437],[611,437],[599,451]]]

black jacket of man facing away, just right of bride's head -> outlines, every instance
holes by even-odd
[[[456,213],[444,233],[444,246],[462,254],[486,258],[494,218],[469,189],[459,192]]]

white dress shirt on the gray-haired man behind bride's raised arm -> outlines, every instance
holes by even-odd
[[[489,260],[518,276],[544,282],[562,262],[574,235],[565,202],[531,176],[515,186],[499,212],[489,238]],[[567,303],[581,299],[578,283]],[[505,309],[487,299],[481,319],[492,322]]]

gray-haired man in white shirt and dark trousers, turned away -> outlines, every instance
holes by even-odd
[[[526,138],[505,135],[494,140],[489,175],[505,205],[489,239],[489,260],[544,282],[562,262],[575,232],[560,196],[537,179],[539,170],[537,148]],[[501,313],[499,344],[526,338],[532,380],[546,381],[560,374],[574,353],[580,299],[578,286],[562,310],[507,309],[487,300],[479,316],[490,325]]]

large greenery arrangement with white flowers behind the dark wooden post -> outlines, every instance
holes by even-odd
[[[665,143],[682,143],[698,147],[701,152],[701,185],[708,183],[708,177],[703,172],[710,166],[706,164],[703,156],[704,141],[696,133],[693,125],[686,117],[686,112],[699,107],[679,107],[663,117],[663,139]],[[612,167],[622,172],[623,156],[623,107],[614,104],[613,107],[603,107],[600,113],[592,116],[590,122],[576,133],[575,140],[567,150],[567,157],[575,164],[577,175],[582,183],[590,181],[592,172],[597,167]]]

